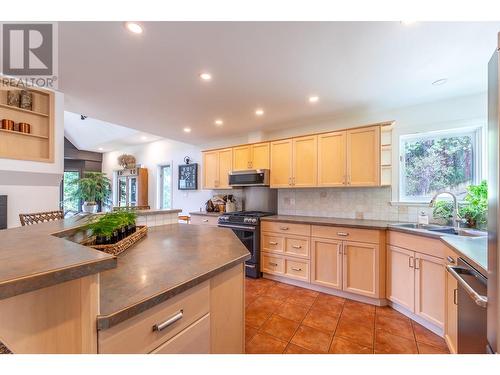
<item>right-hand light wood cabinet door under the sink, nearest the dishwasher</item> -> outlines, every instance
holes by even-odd
[[[415,314],[444,328],[446,271],[441,258],[415,255]]]

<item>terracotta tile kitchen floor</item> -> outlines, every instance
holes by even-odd
[[[247,278],[246,353],[445,354],[444,340],[390,307]]]

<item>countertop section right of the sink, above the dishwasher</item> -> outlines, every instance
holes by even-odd
[[[484,276],[488,275],[488,237],[441,237],[446,245]]]

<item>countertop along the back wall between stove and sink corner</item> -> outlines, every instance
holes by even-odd
[[[365,229],[387,229],[393,221],[363,220],[363,219],[341,219],[336,217],[321,216],[296,216],[296,215],[273,215],[264,216],[262,221],[280,221],[284,223],[326,225],[335,227],[365,228]]]

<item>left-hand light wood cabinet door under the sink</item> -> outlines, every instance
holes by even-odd
[[[409,311],[415,309],[415,253],[387,247],[387,298]]]

